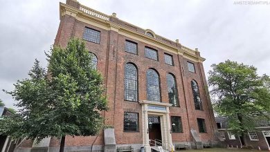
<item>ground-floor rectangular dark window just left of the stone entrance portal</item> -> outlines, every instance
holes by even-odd
[[[138,131],[138,113],[124,113],[124,131]]]

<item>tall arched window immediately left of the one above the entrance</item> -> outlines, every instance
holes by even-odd
[[[125,100],[138,101],[138,73],[133,64],[125,65]]]

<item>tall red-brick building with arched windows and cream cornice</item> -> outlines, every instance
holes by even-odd
[[[109,111],[97,136],[66,137],[66,151],[110,151],[154,143],[164,149],[184,145],[201,149],[219,142],[213,109],[206,89],[203,61],[192,50],[152,30],[105,15],[78,1],[60,3],[60,26],[55,44],[65,47],[71,37],[84,39],[97,70],[105,77]],[[17,151],[47,147],[58,151],[51,137]]]

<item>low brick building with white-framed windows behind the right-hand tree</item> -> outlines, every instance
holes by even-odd
[[[249,131],[244,139],[240,136],[234,135],[228,129],[227,117],[216,117],[217,129],[220,137],[224,140],[224,144],[228,147],[240,148],[242,147],[242,140],[245,141],[246,146],[251,149],[269,150],[270,149],[270,122],[268,120],[260,120],[256,123],[254,131]]]

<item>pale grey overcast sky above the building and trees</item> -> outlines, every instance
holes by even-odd
[[[270,1],[78,1],[107,15],[116,12],[119,19],[172,41],[179,39],[183,46],[199,48],[206,58],[206,73],[211,64],[231,59],[270,75]],[[60,23],[59,2],[1,3],[0,89],[11,91],[17,79],[28,77],[35,58],[46,66],[44,50],[50,50]],[[1,91],[0,99],[15,108],[10,95]]]

